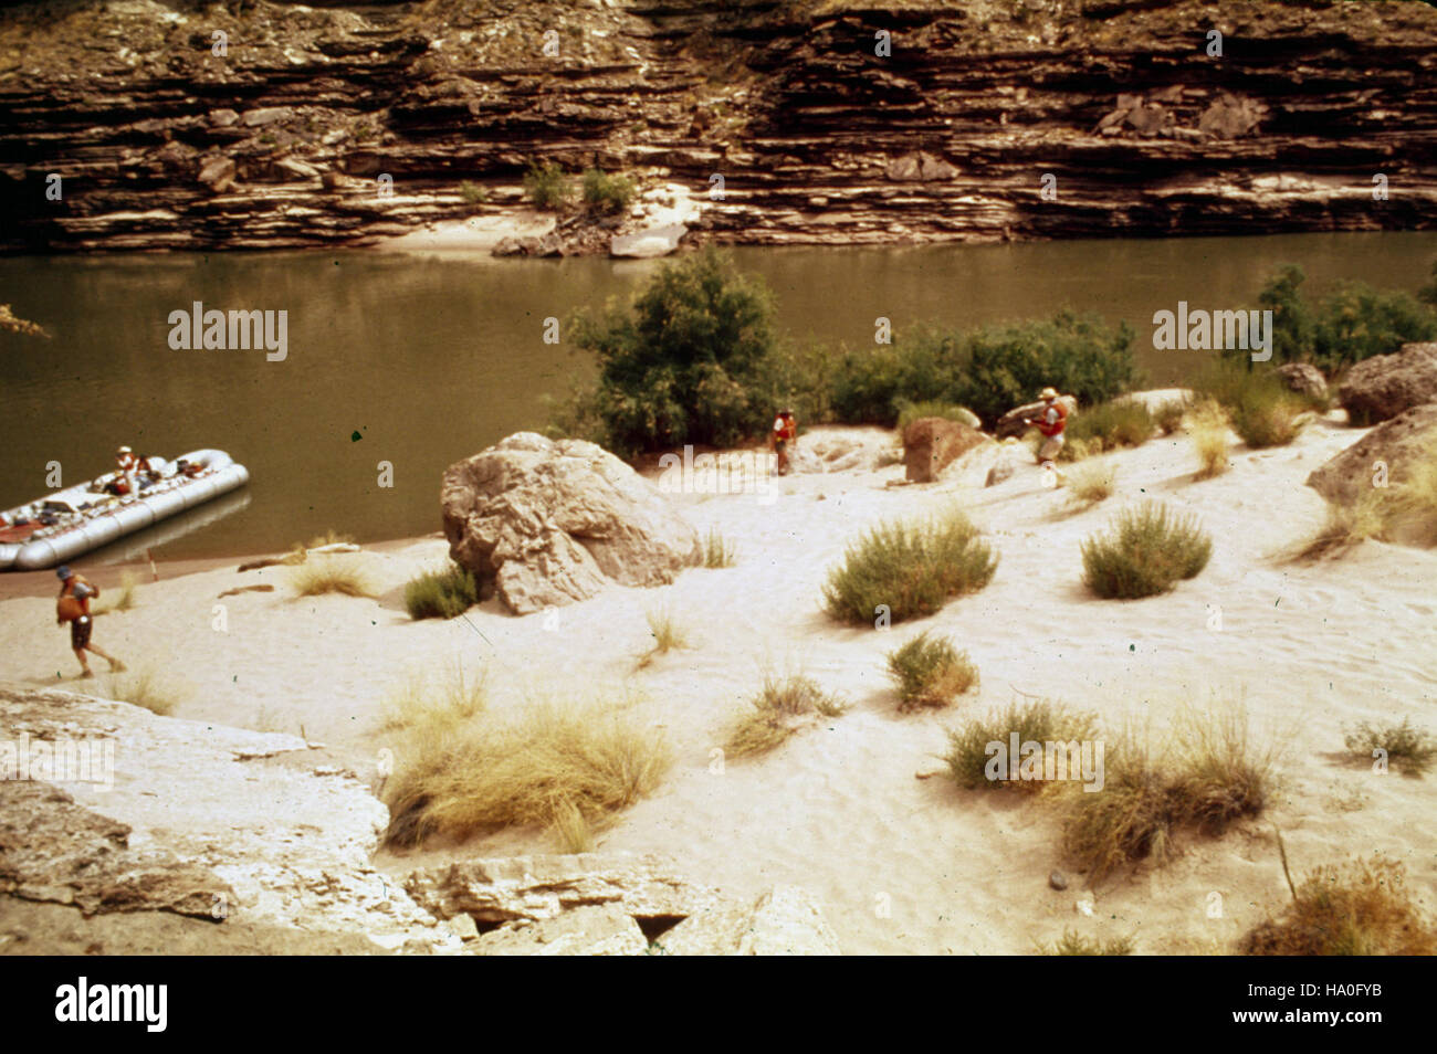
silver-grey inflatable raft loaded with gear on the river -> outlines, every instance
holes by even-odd
[[[197,449],[174,461],[158,457],[147,461],[154,471],[139,475],[138,494],[108,493],[121,478],[119,472],[109,472],[0,513],[0,570],[55,567],[250,480],[249,470],[220,449]]]

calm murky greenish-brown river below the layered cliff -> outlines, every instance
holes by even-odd
[[[740,248],[799,340],[869,346],[874,320],[970,326],[1072,306],[1137,330],[1152,386],[1194,352],[1152,349],[1152,312],[1256,306],[1280,263],[1309,293],[1338,279],[1414,292],[1437,233],[1293,234],[937,246]],[[629,294],[662,261],[491,260],[374,251],[11,257],[0,303],[52,339],[0,332],[0,508],[98,475],[114,448],[174,457],[218,447],[249,465],[244,497],[96,554],[207,557],[283,549],[326,530],[361,541],[438,530],[453,461],[542,426],[592,365],[563,343],[572,312]],[[286,355],[171,348],[172,312],[287,312]],[[277,316],[276,316],[277,317]],[[560,320],[545,343],[545,320]],[[392,487],[381,487],[381,462]],[[178,530],[175,528],[178,527]]]

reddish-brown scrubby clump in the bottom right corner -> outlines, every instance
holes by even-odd
[[[1285,864],[1286,866],[1286,864]],[[1434,955],[1437,928],[1382,854],[1312,872],[1276,919],[1253,926],[1243,955]]]

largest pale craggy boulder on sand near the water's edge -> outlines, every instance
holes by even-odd
[[[652,482],[582,439],[510,435],[450,465],[440,503],[450,556],[517,615],[611,582],[667,584],[703,559],[697,531]]]

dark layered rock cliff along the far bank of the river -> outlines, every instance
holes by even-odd
[[[691,241],[1420,228],[1434,65],[1421,3],[29,3],[0,250],[374,244],[536,159],[688,187]]]

